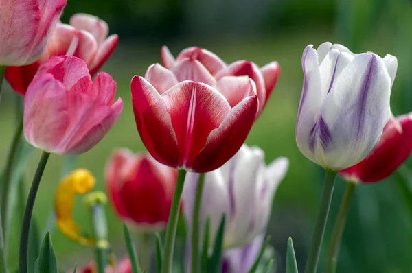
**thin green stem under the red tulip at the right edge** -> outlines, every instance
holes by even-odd
[[[326,273],[336,271],[336,262],[338,261],[339,246],[341,245],[343,230],[345,229],[347,211],[349,210],[350,200],[354,193],[355,182],[347,182],[345,193],[343,194],[339,213],[332,231],[332,241],[329,248],[328,263],[326,264]]]

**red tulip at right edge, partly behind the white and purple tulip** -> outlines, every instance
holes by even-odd
[[[412,115],[391,117],[374,150],[360,163],[339,171],[354,182],[378,182],[396,171],[412,152]]]

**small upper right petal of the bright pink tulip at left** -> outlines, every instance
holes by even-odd
[[[108,73],[98,73],[90,90],[91,97],[104,102],[108,106],[112,105],[115,101],[116,82]]]

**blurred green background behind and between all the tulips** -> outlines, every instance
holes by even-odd
[[[393,85],[391,106],[395,115],[412,110],[412,2],[407,0],[69,0],[62,21],[76,12],[100,16],[120,41],[113,57],[102,71],[117,81],[117,94],[124,99],[119,121],[102,142],[80,156],[76,167],[90,169],[98,178],[97,189],[104,189],[104,166],[117,147],[143,151],[135,128],[130,102],[130,80],[144,75],[147,67],[160,62],[160,47],[168,45],[176,56],[181,49],[205,47],[230,63],[251,60],[262,66],[277,60],[282,73],[264,114],[247,139],[266,152],[266,161],[277,156],[290,158],[290,170],[275,195],[268,227],[276,250],[277,272],[284,272],[288,237],[293,237],[299,269],[304,269],[314,219],[317,215],[323,170],[308,161],[295,143],[295,121],[302,85],[301,53],[308,44],[324,41],[342,43],[352,51],[374,51],[380,56],[398,57],[398,75]],[[8,84],[0,107],[0,166],[16,126],[15,97]],[[411,140],[412,141],[412,140]],[[27,167],[26,193],[40,152]],[[41,229],[54,202],[54,192],[62,172],[62,156],[51,156],[38,193],[34,215]],[[406,163],[402,175],[409,172]],[[343,235],[337,272],[412,272],[412,215],[407,191],[400,187],[400,176],[375,185],[358,185],[350,206]],[[407,184],[409,186],[409,184]],[[319,272],[334,217],[345,182],[336,182],[332,208],[323,242]],[[111,208],[107,208],[113,249],[125,253],[122,229]],[[81,198],[76,204],[76,220],[88,228],[89,213]],[[16,263],[18,225],[21,211],[14,212],[10,241],[10,261]],[[135,233],[137,237],[137,233]],[[59,265],[72,267],[93,259],[93,250],[78,246],[58,230],[52,236]]]

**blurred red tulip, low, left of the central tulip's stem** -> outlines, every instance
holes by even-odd
[[[106,165],[106,188],[124,221],[145,230],[162,230],[168,222],[177,170],[149,154],[116,150]]]

